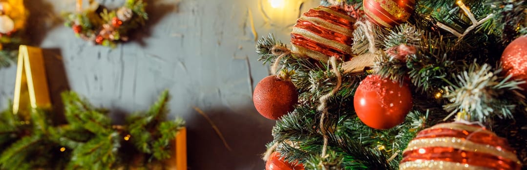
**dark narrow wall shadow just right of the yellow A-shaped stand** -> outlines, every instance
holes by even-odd
[[[69,90],[70,85],[67,81],[61,51],[57,48],[42,49],[42,54],[44,56],[50,98],[53,104],[53,113],[56,114],[52,116],[53,122],[57,124],[65,123],[61,93]]]

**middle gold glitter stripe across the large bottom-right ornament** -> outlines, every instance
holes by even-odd
[[[403,151],[403,154],[407,151],[419,150],[419,148],[424,147],[452,147],[463,151],[501,156],[514,162],[519,162],[516,155],[512,152],[507,152],[501,148],[496,148],[490,145],[477,144],[457,137],[435,137],[412,140],[408,143],[408,147]]]

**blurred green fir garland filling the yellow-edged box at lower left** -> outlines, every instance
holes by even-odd
[[[112,125],[107,111],[74,92],[62,93],[62,100],[65,124],[41,109],[29,120],[11,108],[0,113],[0,169],[152,169],[170,158],[170,141],[184,126],[166,119],[168,91],[123,125]]]

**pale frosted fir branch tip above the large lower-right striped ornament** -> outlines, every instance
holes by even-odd
[[[466,71],[455,75],[457,83],[445,88],[445,98],[452,103],[445,105],[451,115],[465,111],[473,120],[484,121],[489,116],[512,118],[517,103],[525,97],[519,84],[525,81],[511,80],[511,76],[500,77],[501,69],[491,71],[491,66],[473,63]]]

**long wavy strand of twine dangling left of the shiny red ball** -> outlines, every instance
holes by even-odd
[[[320,97],[319,101],[320,104],[317,107],[318,111],[321,111],[320,114],[320,132],[322,133],[322,136],[324,137],[324,145],[322,146],[322,153],[320,154],[320,157],[325,158],[326,157],[326,151],[327,151],[327,145],[328,145],[328,135],[326,134],[326,127],[324,126],[324,119],[326,118],[326,115],[328,114],[328,109],[326,108],[326,102],[329,99],[329,97],[333,96],[339,89],[342,84],[342,77],[340,75],[340,71],[337,68],[337,59],[335,57],[330,57],[329,62],[331,63],[331,67],[333,67],[333,72],[335,73],[335,76],[337,77],[337,86],[331,90],[331,92],[323,95]],[[324,167],[322,165],[322,162],[319,163],[320,166]]]

